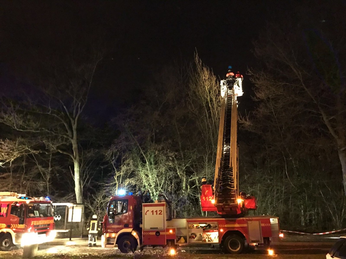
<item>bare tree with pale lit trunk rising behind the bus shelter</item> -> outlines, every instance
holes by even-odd
[[[41,152],[71,157],[77,203],[83,202],[78,126],[101,59],[98,51],[72,51],[70,56],[40,62],[39,72],[29,74],[35,86],[32,92],[26,89],[26,99],[2,99],[0,123],[38,137]]]

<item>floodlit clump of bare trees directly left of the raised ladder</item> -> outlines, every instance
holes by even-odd
[[[114,120],[121,132],[109,152],[116,181],[122,176],[153,198],[164,193],[182,217],[203,214],[200,180],[213,178],[219,105],[216,77],[197,55],[193,65],[160,70],[140,103]]]

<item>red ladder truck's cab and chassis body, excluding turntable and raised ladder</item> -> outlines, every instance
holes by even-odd
[[[279,219],[273,216],[173,218],[163,195],[143,203],[142,195],[111,197],[103,218],[101,246],[127,253],[144,246],[175,247],[219,244],[227,253],[242,253],[246,244],[279,241]]]

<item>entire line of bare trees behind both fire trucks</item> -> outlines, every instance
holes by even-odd
[[[345,225],[344,7],[300,6],[253,43],[258,64],[243,88],[253,87],[255,107],[239,122],[239,184],[256,196],[254,213],[279,216],[281,228]],[[3,56],[0,191],[77,201],[89,216],[103,215],[122,184],[164,193],[178,217],[205,215],[200,180],[212,183],[215,172],[218,78],[197,54],[152,69],[130,104],[100,124],[90,99],[103,89],[113,50],[80,33],[73,44],[66,36],[71,47],[51,36],[39,52],[30,45],[20,55],[18,42]]]

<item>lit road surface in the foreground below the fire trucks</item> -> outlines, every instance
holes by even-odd
[[[134,259],[150,259],[150,258],[167,258],[167,259],[262,259],[262,258],[276,258],[276,259],[292,259],[292,258],[308,258],[308,259],[322,259],[326,258],[325,255],[333,243],[296,243],[285,244],[274,247],[275,255],[269,256],[266,249],[252,247],[247,253],[242,255],[227,255],[223,254],[219,249],[203,247],[191,248],[184,247],[177,250],[176,255],[170,256],[167,249],[162,248],[146,248],[144,251],[136,251],[134,254],[124,255],[118,249],[102,249],[99,247],[89,248],[85,245],[40,245],[37,257],[35,259],[43,258],[63,258],[63,259],[100,259],[100,258],[134,258]],[[22,257],[22,250],[12,250],[10,252],[0,252],[1,259],[19,259]]]

